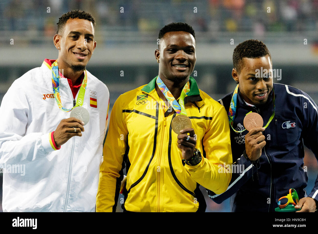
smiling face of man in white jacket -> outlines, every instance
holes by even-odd
[[[54,43],[60,47],[59,67],[84,70],[96,47],[92,22],[79,18],[68,19],[62,35],[55,35]]]

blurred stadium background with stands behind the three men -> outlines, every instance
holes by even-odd
[[[302,89],[318,103],[318,0],[1,0],[0,102],[15,79],[40,67],[45,58],[58,57],[53,45],[56,23],[75,9],[90,12],[96,20],[97,47],[87,70],[110,91],[109,115],[120,94],[158,74],[154,56],[158,32],[178,21],[196,32],[194,78],[212,98],[218,100],[235,87],[231,76],[235,46],[259,39],[272,54],[273,68],[282,70],[281,80],[274,82]],[[318,167],[308,149],[304,161],[309,194]],[[0,184],[2,200],[2,174]],[[207,211],[230,211],[229,200],[218,205],[202,191]]]

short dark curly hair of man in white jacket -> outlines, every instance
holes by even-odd
[[[92,22],[93,28],[95,29],[95,25],[96,25],[95,19],[90,13],[88,13],[86,11],[81,11],[81,10],[73,10],[73,11],[69,11],[69,12],[63,14],[59,18],[59,22],[57,23],[58,29],[57,29],[56,33],[63,34],[63,30],[64,30],[64,26],[66,24],[66,21],[68,19],[75,19],[75,18],[87,19],[88,21]]]

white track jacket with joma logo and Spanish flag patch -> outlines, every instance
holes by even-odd
[[[93,212],[109,92],[103,82],[87,72],[83,107],[89,111],[90,120],[81,137],[72,137],[54,150],[50,133],[62,119],[70,117],[70,112],[60,110],[51,95],[52,74],[45,61],[14,81],[1,103],[3,211]],[[59,85],[62,105],[71,109],[73,95],[67,79],[60,78]]]

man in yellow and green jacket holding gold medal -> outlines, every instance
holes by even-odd
[[[112,109],[97,212],[116,210],[124,167],[124,211],[205,211],[199,185],[220,194],[231,180],[227,113],[190,77],[194,30],[171,23],[159,39],[159,75],[119,96]]]

